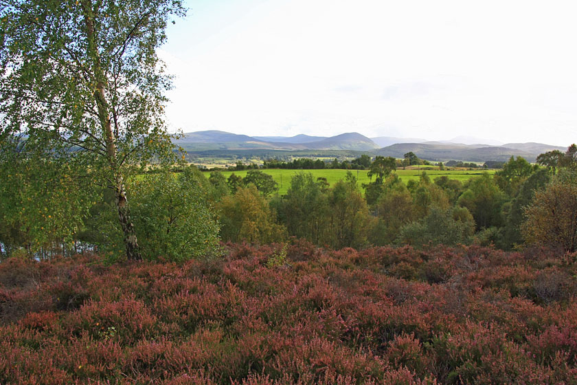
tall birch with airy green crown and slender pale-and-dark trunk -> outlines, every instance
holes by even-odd
[[[0,156],[58,159],[115,192],[129,259],[140,259],[126,177],[173,151],[170,77],[156,50],[180,0],[1,0]]]

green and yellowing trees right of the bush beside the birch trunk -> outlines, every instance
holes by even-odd
[[[464,183],[444,175],[431,180],[424,172],[419,181],[405,184],[394,173],[398,163],[392,157],[371,162],[369,184],[359,186],[348,173],[329,186],[303,172],[282,197],[271,197],[275,182],[259,170],[249,171],[249,180],[212,172],[209,181],[218,191],[214,203],[223,241],[267,243],[295,236],[336,249],[476,243],[512,250],[541,243],[574,251],[576,150],[569,147],[558,162],[543,154],[541,167],[511,157],[494,176]]]

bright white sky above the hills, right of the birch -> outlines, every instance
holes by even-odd
[[[577,142],[577,2],[188,0],[171,131]]]

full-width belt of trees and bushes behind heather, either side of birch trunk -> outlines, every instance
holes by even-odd
[[[275,194],[271,175],[256,169],[244,178],[225,178],[218,171],[207,178],[194,166],[181,173],[161,168],[125,183],[146,259],[217,255],[219,241],[270,243],[289,237],[335,249],[475,243],[512,250],[531,243],[575,251],[576,154],[572,145],[566,153],[542,154],[539,165],[511,157],[494,176],[463,183],[423,172],[406,184],[395,173],[398,159],[359,157],[359,164],[368,164],[370,183],[361,186],[348,173],[331,186],[303,171],[283,196]],[[71,175],[58,159],[38,163],[14,157],[1,168],[3,256],[46,259],[86,249],[111,259],[125,255],[113,191],[81,184],[81,177]]]

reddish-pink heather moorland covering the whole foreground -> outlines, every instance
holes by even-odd
[[[0,384],[576,384],[577,254],[0,263]]]

